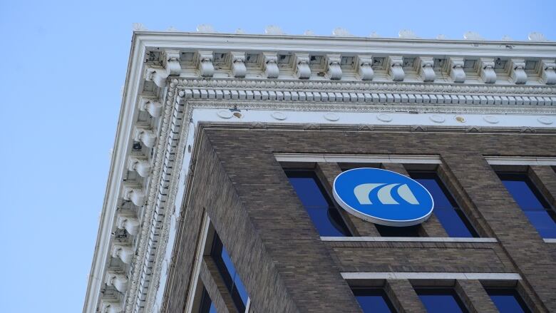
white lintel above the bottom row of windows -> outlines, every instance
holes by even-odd
[[[340,274],[344,279],[521,279],[518,273],[341,272]]]

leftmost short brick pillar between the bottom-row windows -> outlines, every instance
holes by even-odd
[[[408,279],[387,279],[386,294],[400,313],[426,313],[423,302]]]

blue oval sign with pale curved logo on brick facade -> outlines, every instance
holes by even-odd
[[[354,168],[334,180],[334,199],[346,211],[369,222],[411,226],[431,216],[431,193],[416,180],[379,168]]]

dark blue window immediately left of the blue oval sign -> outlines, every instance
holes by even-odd
[[[312,171],[286,172],[299,200],[321,236],[351,236],[340,212]]]

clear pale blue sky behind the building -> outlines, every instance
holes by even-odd
[[[0,0],[0,311],[81,312],[132,23],[556,40],[556,1]]]

